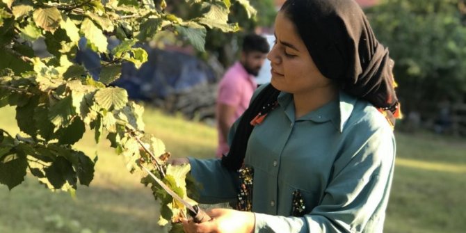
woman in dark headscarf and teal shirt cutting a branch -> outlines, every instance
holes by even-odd
[[[382,232],[399,114],[388,51],[353,0],[288,0],[275,38],[271,85],[230,130],[230,152],[188,160],[200,202],[251,211],[212,209],[184,230]]]

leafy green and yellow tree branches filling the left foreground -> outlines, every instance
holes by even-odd
[[[230,0],[186,1],[202,15],[182,19],[166,13],[164,0],[2,0],[0,2],[0,107],[15,106],[21,134],[12,136],[0,129],[0,183],[14,188],[26,172],[48,188],[70,191],[93,180],[97,156],[90,158],[74,144],[86,130],[93,130],[99,143],[105,136],[127,161],[130,172],[150,168],[186,198],[191,182],[189,168],[165,166],[161,140],[144,134],[143,107],[130,102],[126,90],[108,86],[120,76],[123,61],[140,67],[147,53],[138,45],[157,33],[184,35],[203,51],[206,27],[234,32],[228,22]],[[238,1],[248,12],[248,1]],[[88,49],[99,53],[102,72],[98,80],[90,70],[73,63],[78,41],[86,37]],[[120,45],[108,49],[108,38]],[[32,43],[45,40],[51,56],[40,58]],[[147,175],[143,184],[162,202],[162,225],[179,215],[176,205]],[[186,189],[187,187],[187,189]]]

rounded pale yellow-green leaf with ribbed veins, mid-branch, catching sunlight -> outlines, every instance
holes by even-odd
[[[102,108],[111,111],[122,109],[128,102],[128,93],[122,88],[104,88],[97,90],[94,96],[95,102]]]

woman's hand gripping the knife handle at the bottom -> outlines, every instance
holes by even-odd
[[[194,223],[183,219],[186,233],[250,233],[254,231],[255,216],[252,212],[234,209],[211,209],[206,211],[212,219],[204,223]]]

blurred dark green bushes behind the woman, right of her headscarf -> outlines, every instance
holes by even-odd
[[[466,98],[465,6],[464,0],[385,0],[367,10],[394,58],[397,90],[408,109]]]

